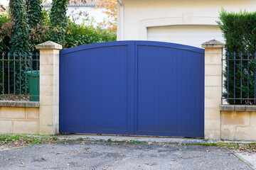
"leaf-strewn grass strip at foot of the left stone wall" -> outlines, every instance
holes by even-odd
[[[29,144],[39,144],[55,142],[58,137],[53,135],[0,135],[0,146],[23,146]]]

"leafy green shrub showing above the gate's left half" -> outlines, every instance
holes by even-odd
[[[110,30],[92,26],[92,23],[77,24],[75,21],[69,21],[64,48],[115,40],[117,40],[117,35]]]

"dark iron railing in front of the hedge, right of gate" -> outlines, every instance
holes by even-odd
[[[227,52],[223,64],[223,100],[256,104],[256,52]]]

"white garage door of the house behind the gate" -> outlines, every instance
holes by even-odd
[[[174,42],[178,44],[201,47],[208,40],[224,38],[218,26],[165,26],[152,27],[147,30],[148,40]]]

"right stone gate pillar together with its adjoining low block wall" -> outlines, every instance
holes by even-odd
[[[256,141],[256,106],[222,105],[223,48],[217,40],[205,48],[205,139]]]

